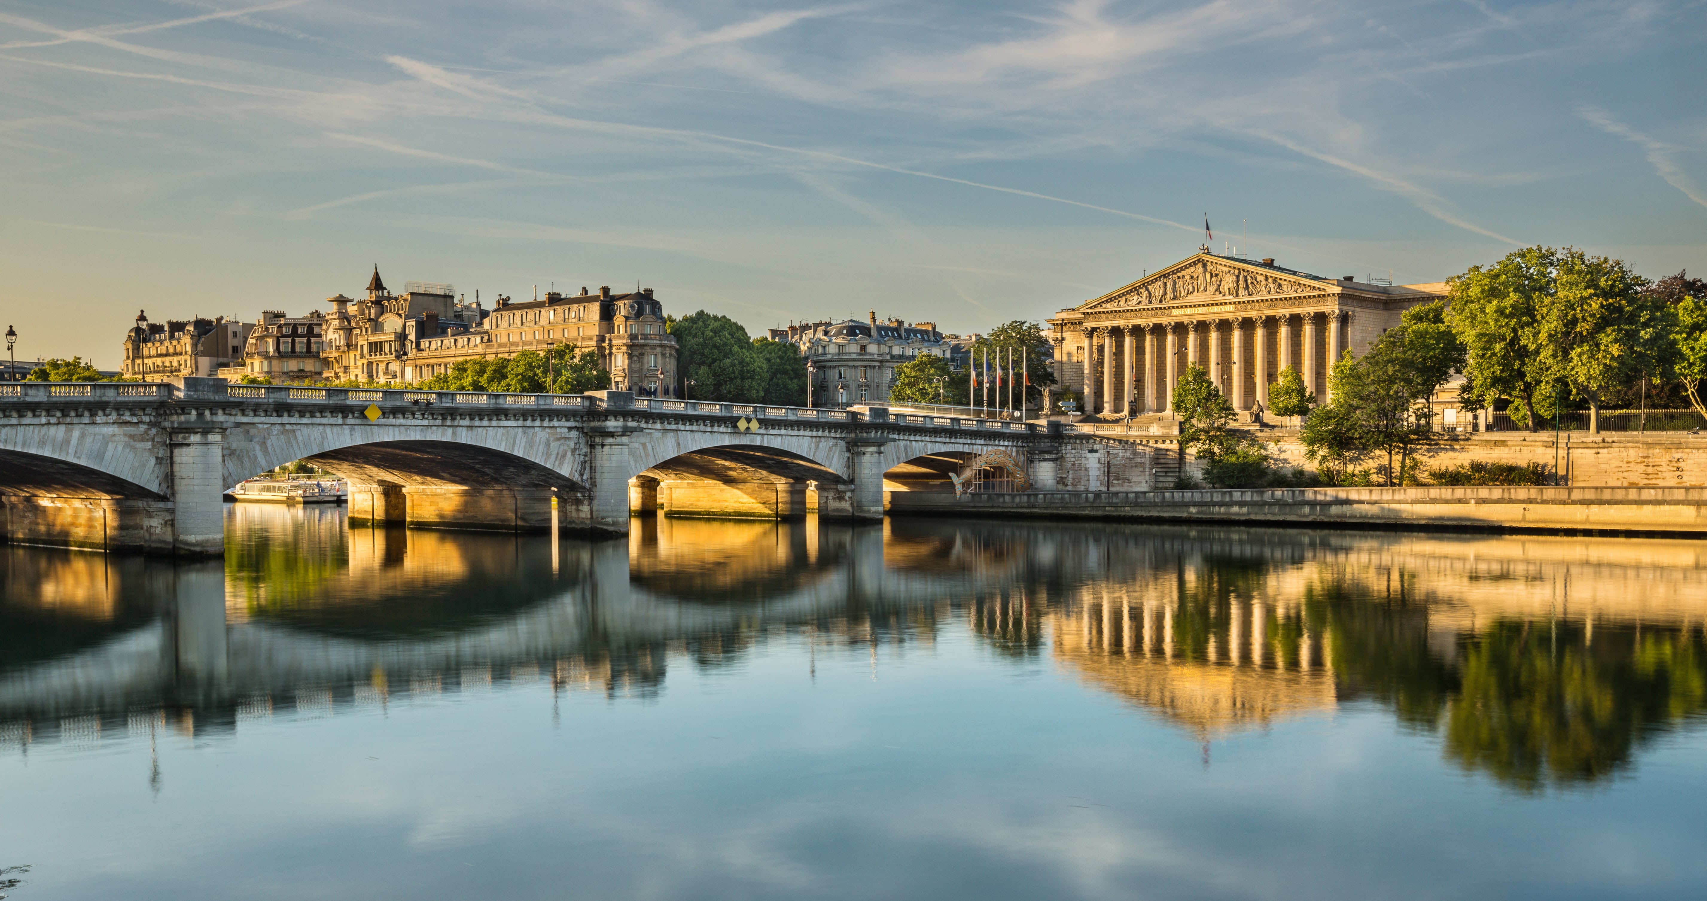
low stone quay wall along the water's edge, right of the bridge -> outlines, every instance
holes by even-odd
[[[1316,529],[1663,532],[1707,538],[1707,488],[1217,488],[891,491],[891,515],[1239,522]]]

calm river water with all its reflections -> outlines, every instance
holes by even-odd
[[[0,548],[15,901],[1707,894],[1707,543],[227,515]]]

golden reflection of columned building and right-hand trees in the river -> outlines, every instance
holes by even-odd
[[[1087,681],[1214,739],[1367,698],[1521,792],[1586,785],[1707,712],[1681,541],[1151,531],[1038,616]],[[1611,548],[1608,548],[1611,544]],[[1011,637],[975,618],[992,642]]]

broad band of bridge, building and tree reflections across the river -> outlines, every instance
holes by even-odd
[[[1707,713],[1702,543],[816,517],[553,543],[227,515],[224,563],[0,549],[0,744],[527,684],[645,700],[671,664],[789,642],[876,667],[947,630],[1203,742],[1378,705],[1519,790],[1610,778]]]

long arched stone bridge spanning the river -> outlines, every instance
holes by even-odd
[[[1034,490],[1152,488],[1149,450],[1034,423],[886,408],[162,384],[0,386],[7,541],[218,555],[222,497],[292,461],[352,520],[623,534],[630,512],[881,520],[884,488],[953,490],[988,450]]]

